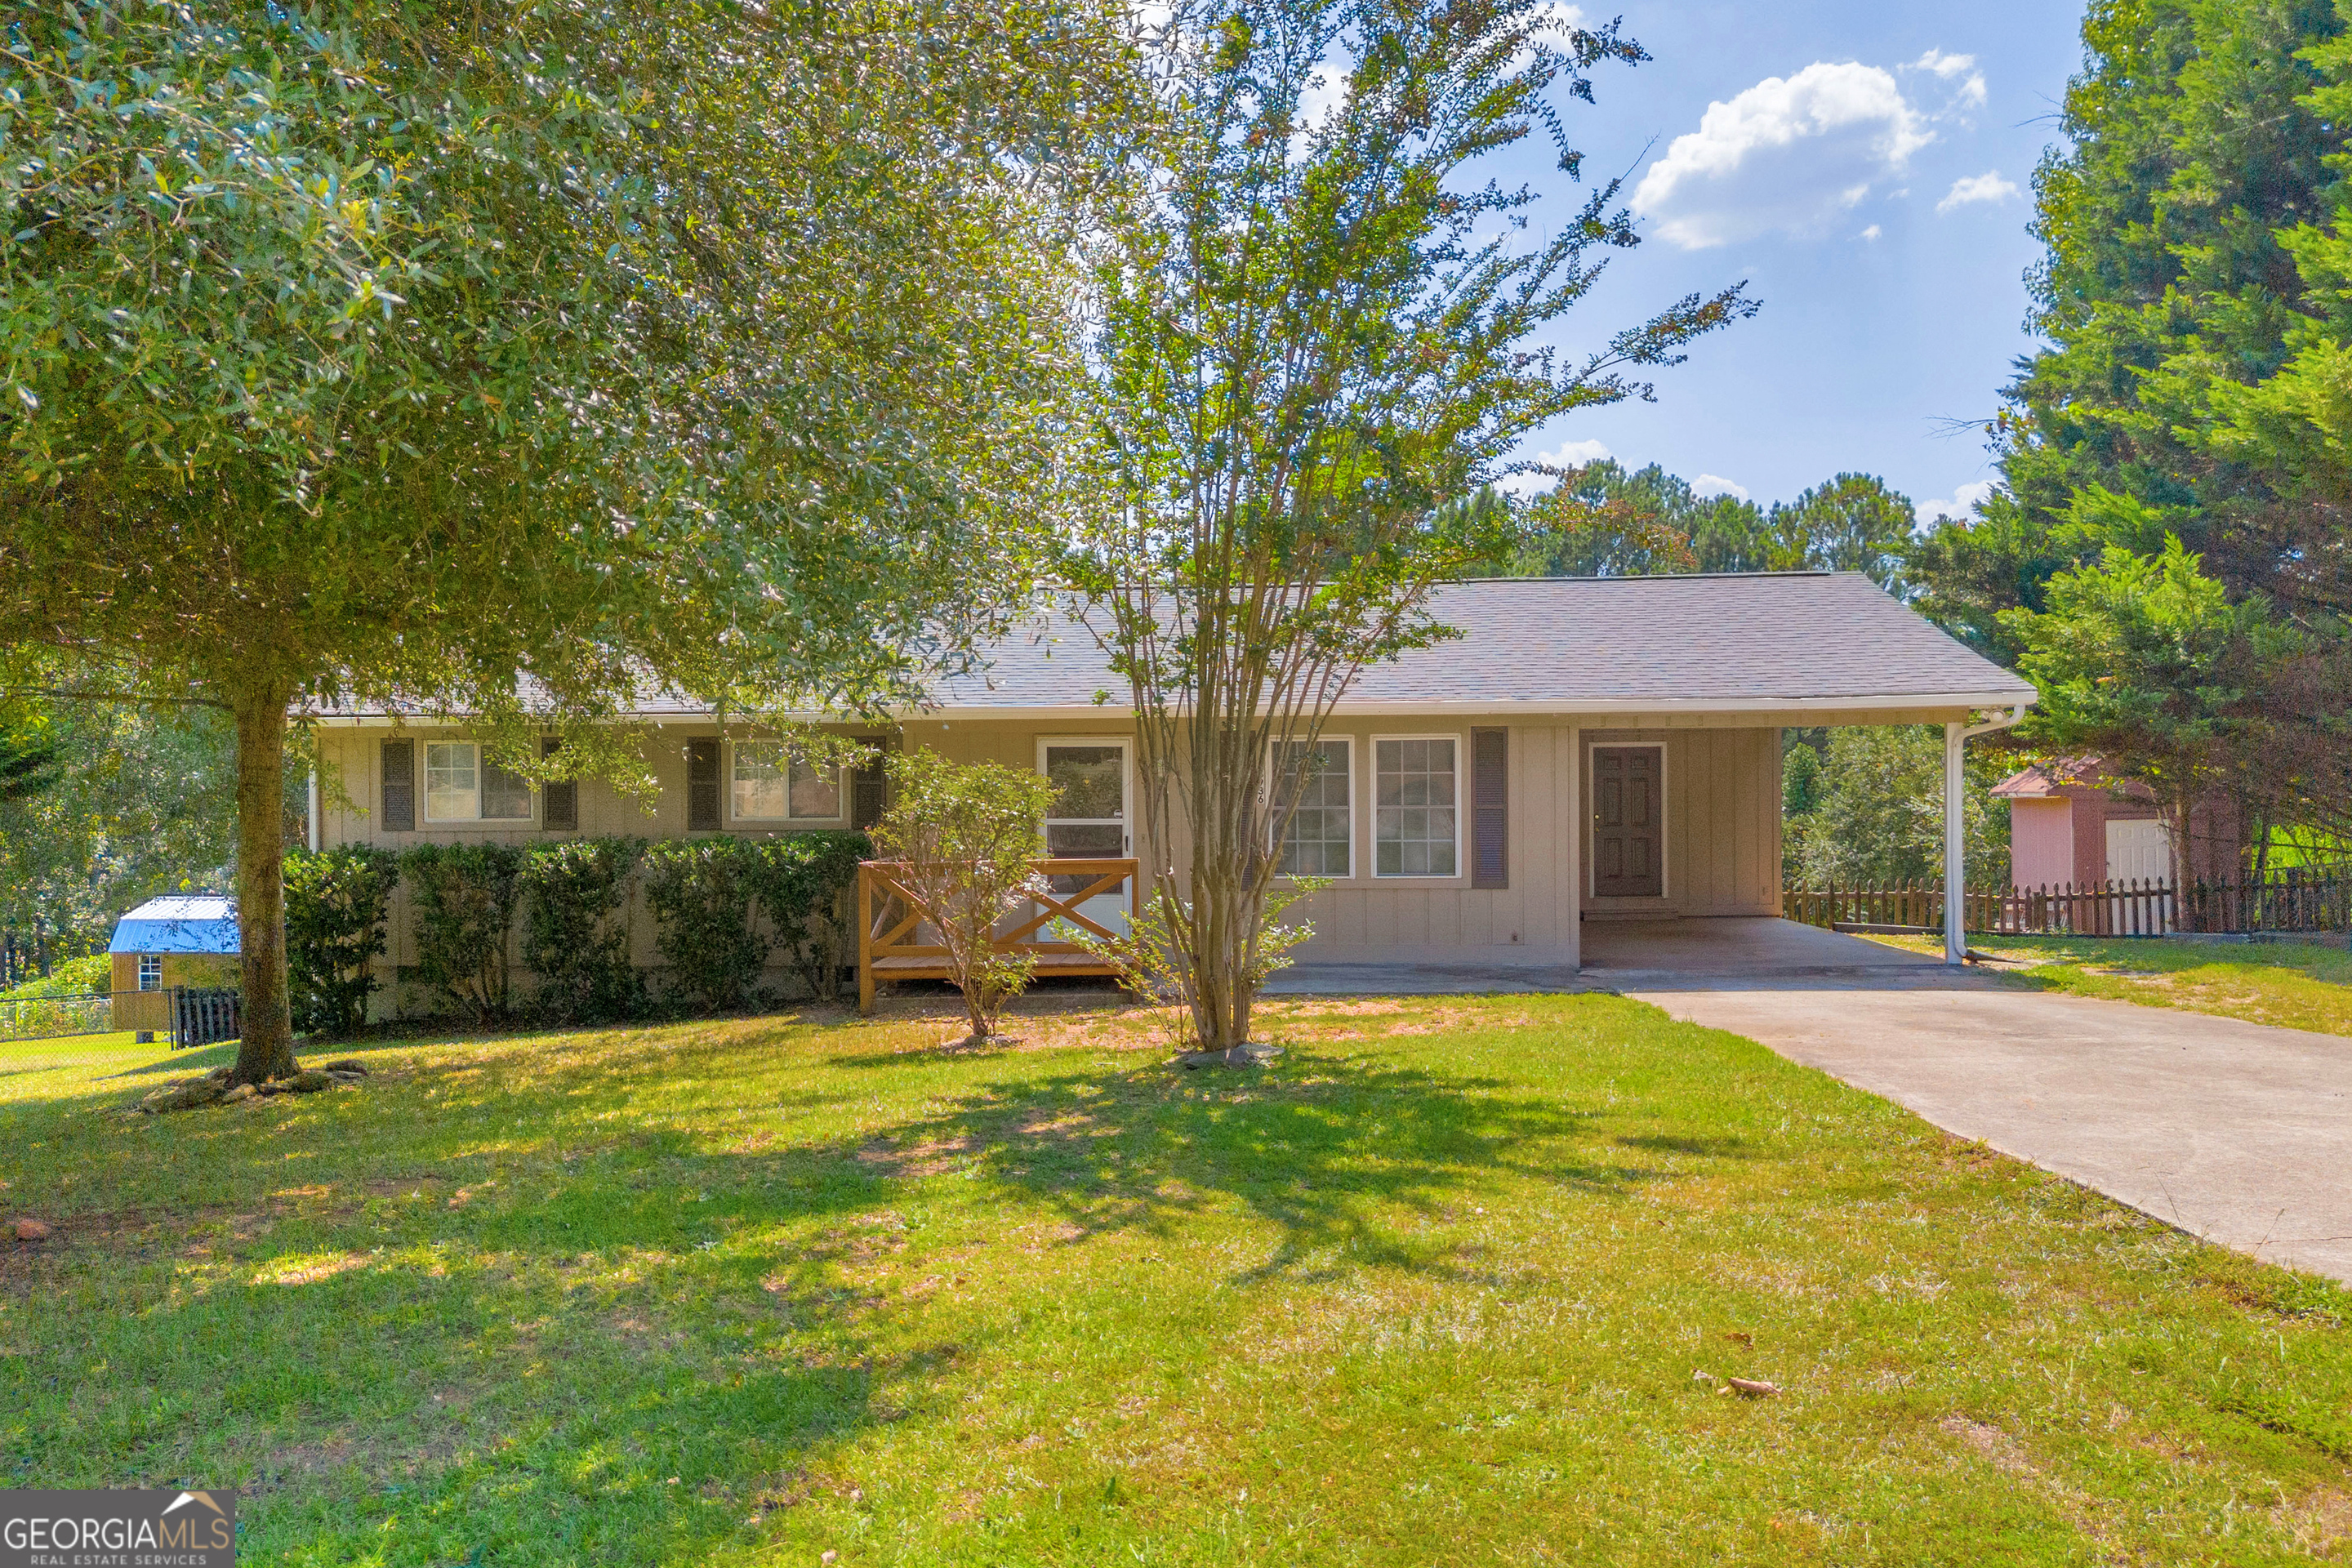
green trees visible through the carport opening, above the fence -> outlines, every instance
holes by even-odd
[[[1790,750],[1790,762],[1811,755]],[[1804,764],[1783,773],[1799,776]],[[1969,750],[1962,785],[1966,884],[2009,886],[2009,806],[1992,785],[2013,769]],[[1790,882],[1825,886],[1943,884],[1943,729],[1938,724],[1856,724],[1830,729],[1809,769],[1816,804],[1790,806],[1780,825],[1780,860]]]

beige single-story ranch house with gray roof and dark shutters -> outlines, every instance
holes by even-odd
[[[1322,736],[1284,846],[1329,879],[1298,910],[1315,924],[1305,961],[1573,966],[1585,922],[1778,914],[1783,726],[1943,724],[1957,788],[1969,726],[2034,701],[1860,574],[1494,578],[1444,585],[1432,609],[1463,635],[1367,670]],[[1120,696],[1091,632],[1044,614],[927,705],[840,729],[1037,769],[1061,785],[1049,853],[1148,865]],[[630,717],[661,780],[649,804],[593,778],[532,788],[463,726],[327,715],[336,788],[313,846],[774,835],[882,809],[873,769],[804,769],[708,710]],[[414,961],[405,924],[395,905],[393,964]],[[652,964],[652,931],[635,943]]]

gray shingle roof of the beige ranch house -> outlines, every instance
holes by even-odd
[[[1374,665],[1343,708],[1705,708],[1710,703],[2030,703],[2034,689],[1856,571],[1489,578],[1437,590],[1456,642]],[[1084,625],[1014,632],[943,708],[1068,708],[1124,684]]]

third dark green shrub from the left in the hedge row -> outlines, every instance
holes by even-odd
[[[644,980],[628,959],[628,900],[642,839],[564,839],[522,856],[522,966],[548,1023],[612,1023],[644,1011]]]

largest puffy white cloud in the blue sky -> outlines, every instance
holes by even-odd
[[[1811,63],[1708,103],[1632,193],[1632,209],[1682,249],[1766,233],[1818,235],[1933,141],[1896,78]]]

